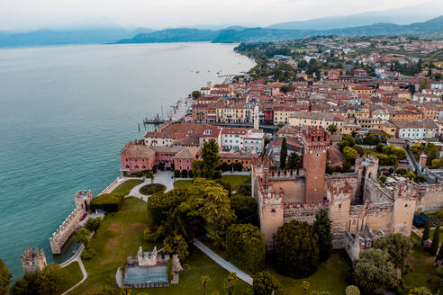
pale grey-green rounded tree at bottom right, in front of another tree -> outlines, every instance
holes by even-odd
[[[360,290],[368,294],[384,294],[386,288],[397,286],[402,272],[395,268],[390,255],[371,248],[360,254],[354,268],[354,278]]]

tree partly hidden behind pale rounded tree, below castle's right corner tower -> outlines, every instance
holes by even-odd
[[[391,256],[391,262],[402,273],[406,271],[405,261],[411,255],[412,244],[408,237],[402,234],[389,234],[387,237],[380,237],[375,240],[374,247],[381,249]]]

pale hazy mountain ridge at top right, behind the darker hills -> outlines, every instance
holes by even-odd
[[[318,19],[298,22],[279,22],[268,26],[267,29],[332,30],[365,26],[378,22],[391,22],[396,24],[425,22],[426,20],[443,14],[443,4],[440,3],[440,1],[441,0],[430,1],[422,4],[404,6],[384,11],[321,17]]]

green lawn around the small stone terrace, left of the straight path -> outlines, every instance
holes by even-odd
[[[135,198],[125,199],[120,211],[108,214],[95,237],[91,239],[91,246],[95,249],[96,255],[92,260],[84,262],[88,278],[71,294],[92,294],[104,285],[116,288],[115,272],[117,267],[124,266],[126,257],[136,255],[139,246],[143,246],[145,251],[150,251],[155,246],[143,240],[146,219],[146,202]],[[200,277],[209,275],[212,281],[208,284],[207,293],[218,291],[224,294],[226,292],[223,288],[223,281],[228,276],[228,272],[213,263],[206,255],[193,249],[187,264],[187,270],[180,274],[178,285],[144,291],[147,291],[149,295],[203,293]],[[239,282],[235,294],[242,294],[246,286],[246,283]],[[142,291],[134,290],[132,294]]]

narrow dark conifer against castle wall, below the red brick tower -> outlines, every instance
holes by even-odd
[[[330,257],[332,250],[332,234],[330,232],[330,217],[327,210],[320,210],[315,215],[312,225],[313,231],[319,237],[318,244],[320,250],[320,260],[326,261]]]

